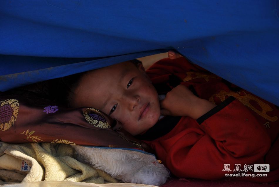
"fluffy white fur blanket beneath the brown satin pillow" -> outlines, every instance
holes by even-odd
[[[92,164],[123,182],[160,186],[169,171],[155,156],[137,149],[100,148],[73,145],[78,160]]]

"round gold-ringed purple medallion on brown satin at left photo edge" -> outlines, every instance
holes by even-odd
[[[7,99],[0,101],[0,130],[8,130],[16,121],[19,114],[19,101]]]

